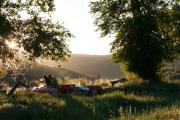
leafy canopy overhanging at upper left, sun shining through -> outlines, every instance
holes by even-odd
[[[7,41],[17,43],[29,58],[65,60],[70,50],[67,40],[72,34],[53,22],[53,0],[0,0],[0,58],[14,58]]]

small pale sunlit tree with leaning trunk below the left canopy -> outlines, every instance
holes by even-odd
[[[29,60],[25,53],[14,49],[12,49],[12,51],[14,51],[14,58],[6,59],[6,61],[1,62],[0,64],[0,68],[4,71],[4,74],[1,76],[1,80],[8,86],[12,87],[7,93],[8,96],[12,95],[19,86],[24,86],[26,88],[29,87],[27,83],[30,81],[25,81],[24,75],[35,62],[33,60]]]

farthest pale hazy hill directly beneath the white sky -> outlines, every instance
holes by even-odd
[[[61,67],[93,77],[115,79],[122,76],[120,65],[112,62],[111,55],[72,54]]]

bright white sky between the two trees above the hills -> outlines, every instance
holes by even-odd
[[[95,32],[94,17],[89,13],[90,0],[55,0],[56,12],[53,19],[63,23],[75,36],[68,44],[74,54],[110,54],[112,38],[100,37]]]

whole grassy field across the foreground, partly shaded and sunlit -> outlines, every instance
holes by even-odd
[[[180,82],[104,87],[101,95],[0,94],[0,120],[179,120]]]

